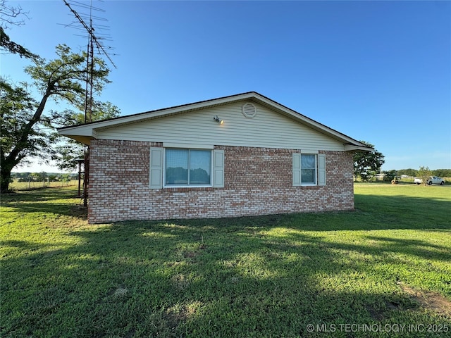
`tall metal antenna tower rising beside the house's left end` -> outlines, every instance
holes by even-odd
[[[101,39],[106,39],[105,35],[99,35],[94,34],[94,26],[92,25],[92,19],[95,18],[97,20],[103,20],[106,21],[104,18],[94,17],[92,15],[92,11],[103,11],[101,8],[95,8],[92,6],[92,0],[90,1],[90,4],[83,4],[79,1],[66,1],[63,0],[64,4],[68,6],[70,12],[73,13],[75,18],[77,18],[78,22],[75,21],[73,23],[70,23],[69,25],[65,25],[66,27],[74,27],[78,30],[85,30],[87,32],[87,60],[86,60],[86,89],[85,89],[85,123],[92,122],[92,92],[93,92],[93,73],[94,73],[94,46],[97,49],[97,53],[100,55],[106,56],[108,58],[111,65],[113,65],[114,68],[117,68],[116,65],[111,60],[111,57],[106,49],[111,49],[111,47],[105,47],[103,44],[101,44]],[[75,9],[73,9],[73,6],[78,6],[84,9],[89,10],[89,14],[79,14]],[[103,11],[104,12],[104,11]],[[86,23],[88,21],[88,23]],[[74,25],[76,24],[76,25]],[[80,25],[81,24],[81,27]],[[100,29],[106,29],[107,27],[105,25],[98,25]],[[86,37],[86,36],[84,36]],[[88,181],[89,181],[89,147],[87,148],[87,151],[85,151],[85,171],[84,171],[84,180],[83,180],[83,205],[87,206],[87,195],[88,195]],[[81,170],[79,169],[79,182],[80,182],[80,175]],[[79,189],[80,194],[80,189]]]

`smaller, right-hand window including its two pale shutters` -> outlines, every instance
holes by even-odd
[[[293,186],[326,185],[325,154],[293,154]]]

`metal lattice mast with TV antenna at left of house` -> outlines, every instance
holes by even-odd
[[[97,51],[99,54],[102,54],[108,58],[111,65],[113,65],[114,68],[117,68],[116,65],[111,60],[109,54],[105,51],[104,46],[99,42],[99,37],[97,37],[94,34],[94,27],[92,26],[92,0],[89,6],[85,4],[81,4],[76,1],[72,1],[76,6],[82,6],[84,8],[89,8],[89,25],[85,23],[85,20],[83,20],[82,16],[78,14],[77,11],[75,11],[68,1],[63,0],[64,4],[68,6],[69,10],[75,15],[75,18],[78,19],[78,21],[82,25],[82,29],[84,28],[87,32],[87,60],[86,60],[86,88],[85,88],[85,123],[92,122],[92,92],[93,92],[93,82],[94,82],[94,45],[97,47]],[[97,11],[100,11],[99,8],[94,8]],[[100,19],[100,18],[98,18]],[[87,151],[85,151],[85,177],[83,180],[83,205],[87,206],[87,194],[88,194],[88,183],[89,183],[89,147]],[[79,180],[80,180],[80,174],[79,173]]]

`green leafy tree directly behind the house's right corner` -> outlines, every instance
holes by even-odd
[[[374,148],[373,144],[365,141],[360,141],[361,143]],[[356,152],[354,154],[354,176],[360,176],[362,180],[371,180],[376,172],[381,170],[381,166],[385,163],[385,156],[376,149],[369,152]]]

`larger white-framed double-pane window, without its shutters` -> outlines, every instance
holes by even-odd
[[[165,185],[210,184],[210,150],[166,149]]]

